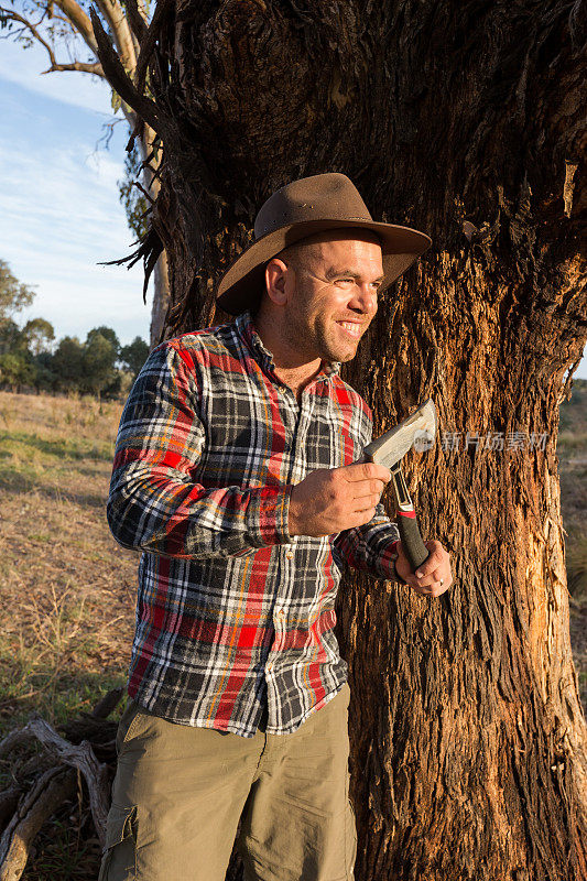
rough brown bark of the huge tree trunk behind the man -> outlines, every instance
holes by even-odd
[[[587,879],[555,450],[587,337],[586,20],[580,0],[170,0],[154,101],[95,25],[164,144],[167,336],[227,319],[215,281],[292,178],[344,172],[434,240],[344,370],[377,431],[430,395],[460,447],[409,467],[454,587],[354,575],[339,595],[357,881]]]

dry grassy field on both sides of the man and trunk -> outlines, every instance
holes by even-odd
[[[105,514],[121,409],[0,392],[0,737],[32,711],[54,724],[77,716],[124,683],[138,554],[116,544]],[[585,706],[586,381],[575,382],[561,428],[570,632]],[[99,848],[89,827],[87,813],[53,820],[25,881],[95,878]]]

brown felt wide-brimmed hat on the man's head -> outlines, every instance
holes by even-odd
[[[369,229],[379,236],[384,273],[381,290],[389,287],[432,244],[424,232],[376,222],[345,174],[302,177],[282,186],[261,206],[254,219],[253,243],[220,280],[218,306],[230,315],[240,315],[259,302],[269,260],[316,232],[348,228]]]

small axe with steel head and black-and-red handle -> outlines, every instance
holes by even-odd
[[[422,541],[414,503],[407,492],[402,474],[402,458],[414,447],[417,453],[430,449],[436,436],[436,407],[428,398],[418,409],[394,428],[371,440],[363,449],[366,461],[384,465],[391,471],[391,483],[395,497],[398,529],[412,572],[424,563],[428,551]]]

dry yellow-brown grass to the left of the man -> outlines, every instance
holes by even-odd
[[[105,502],[121,404],[0,393],[0,733],[126,679],[138,557]]]

